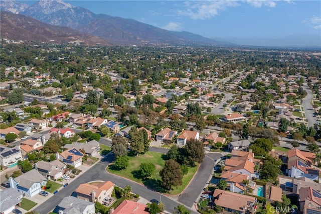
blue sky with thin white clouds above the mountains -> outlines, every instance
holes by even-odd
[[[34,2],[34,1],[31,1]],[[207,38],[281,39],[313,37],[321,46],[321,1],[64,1],[134,19],[171,31]]]

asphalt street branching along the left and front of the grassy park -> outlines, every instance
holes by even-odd
[[[115,185],[120,187],[125,187],[126,184],[129,184],[132,187],[133,192],[141,195],[147,200],[151,200],[152,198],[156,198],[157,200],[160,200],[161,194],[159,194],[158,192],[147,189],[145,186],[142,186],[133,181],[130,181],[106,172],[105,170],[106,166],[109,163],[111,163],[113,159],[114,158],[112,154],[107,155],[105,159],[101,160],[99,163],[94,165],[88,171],[80,175],[77,179],[71,182],[66,188],[63,188],[62,190],[60,190],[58,194],[49,198],[45,203],[38,206],[34,211],[40,212],[40,213],[50,212],[55,208],[56,205],[58,205],[61,202],[61,200],[64,197],[71,195],[72,192],[74,192],[81,183],[87,183],[93,180],[111,180]],[[166,210],[168,210],[169,212],[173,212],[174,207],[180,204],[170,199],[169,197],[166,197],[165,195],[162,195],[162,202],[165,203]],[[192,213],[197,213],[197,212],[192,211]]]

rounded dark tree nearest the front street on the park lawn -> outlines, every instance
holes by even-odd
[[[180,164],[175,160],[167,160],[159,175],[162,178],[164,187],[169,190],[172,190],[172,186],[179,186],[183,183]]]

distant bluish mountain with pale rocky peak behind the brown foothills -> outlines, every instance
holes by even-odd
[[[2,1],[3,2],[3,1]],[[7,1],[6,1],[7,2]],[[16,2],[16,1],[11,1]],[[3,9],[15,11],[17,4],[6,4]],[[41,0],[21,12],[41,22],[67,26],[86,34],[98,36],[115,45],[126,44],[223,44],[188,32],[172,32],[132,19],[94,14],[61,0]],[[193,36],[192,36],[193,35]]]

